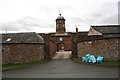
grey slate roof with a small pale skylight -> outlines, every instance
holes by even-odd
[[[43,38],[35,32],[2,34],[2,43],[44,43]]]

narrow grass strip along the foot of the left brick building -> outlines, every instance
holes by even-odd
[[[28,63],[21,63],[21,64],[4,64],[4,65],[2,65],[2,71],[27,68],[27,67],[30,67],[30,66],[33,66],[33,65],[45,63],[47,61],[48,60],[46,59],[46,60],[34,61],[34,62],[28,62]]]

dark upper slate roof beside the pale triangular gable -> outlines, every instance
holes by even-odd
[[[91,26],[96,31],[102,34],[118,34],[120,33],[120,25],[102,25],[102,26]]]

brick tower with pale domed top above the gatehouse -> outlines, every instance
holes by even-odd
[[[56,19],[56,34],[64,34],[65,32],[65,19],[61,14],[59,14]]]

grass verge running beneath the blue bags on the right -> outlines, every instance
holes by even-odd
[[[82,63],[82,64],[93,64],[93,63],[82,62],[80,57],[72,58],[72,60],[78,63]],[[94,64],[94,65],[120,67],[120,60],[103,61],[102,64]]]

